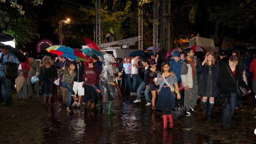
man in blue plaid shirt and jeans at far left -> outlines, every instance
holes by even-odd
[[[0,53],[0,89],[1,85],[4,85],[7,101],[5,106],[11,106],[12,105],[12,94],[11,94],[11,79],[7,78],[4,74],[4,64],[6,62],[12,62],[19,64],[18,58],[16,55],[5,46],[0,46],[1,53]],[[0,93],[0,103],[4,102],[4,99],[2,98],[2,94]]]

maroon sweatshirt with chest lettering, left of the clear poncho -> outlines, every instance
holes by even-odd
[[[84,79],[87,78],[88,80],[85,81],[85,84],[98,86],[99,83],[99,70],[96,66],[90,68],[86,66],[84,69]]]

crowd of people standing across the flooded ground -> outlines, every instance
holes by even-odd
[[[22,89],[18,91],[18,101],[27,100],[27,91],[28,98],[33,98],[31,80],[39,77],[40,82],[34,84],[36,95],[43,97],[43,105],[52,105],[51,98],[56,88],[53,82],[59,79],[62,104],[66,105],[68,113],[71,112],[70,107],[80,108],[85,105],[88,110],[94,110],[99,101],[96,93],[100,92],[103,99],[108,101],[108,114],[115,114],[113,100],[119,95],[120,88],[123,92],[129,92],[130,96],[137,96],[134,103],[141,102],[143,94],[146,107],[162,111],[163,128],[166,129],[167,119],[169,128],[173,128],[172,111],[176,102],[183,104],[188,113],[193,113],[196,112],[198,98],[201,98],[203,117],[207,115],[211,119],[213,108],[218,107],[219,93],[226,92],[230,94],[230,103],[223,108],[222,126],[230,128],[236,108],[242,108],[237,85],[249,93],[251,89],[256,90],[255,55],[246,51],[241,56],[239,49],[235,49],[230,57],[225,51],[217,55],[214,52],[195,53],[193,49],[187,48],[185,52],[173,52],[166,60],[160,54],[151,55],[149,59],[139,55],[122,59],[106,54],[102,66],[102,59],[96,55],[86,55],[87,62],[81,62],[59,56],[53,59],[46,54],[38,63],[27,52],[23,53],[26,62],[20,63],[8,48],[1,47],[0,102],[6,102],[6,106],[12,105],[12,79],[6,78],[3,70],[6,62],[12,62],[18,65],[18,75],[25,79]],[[254,92],[249,95],[255,102]]]

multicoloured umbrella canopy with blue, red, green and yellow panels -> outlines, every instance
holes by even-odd
[[[46,49],[49,53],[73,60],[87,61],[84,54],[70,47],[54,45]]]

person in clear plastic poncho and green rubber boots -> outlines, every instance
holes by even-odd
[[[116,114],[113,110],[114,98],[118,96],[118,91],[115,86],[116,79],[122,73],[116,73],[114,71],[114,55],[106,54],[104,55],[105,66],[100,74],[100,91],[101,95],[104,97],[105,101],[108,98],[108,114]]]

